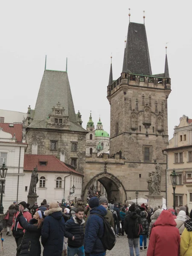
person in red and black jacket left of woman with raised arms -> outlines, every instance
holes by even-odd
[[[31,213],[26,208],[26,202],[25,201],[20,202],[19,210],[13,216],[13,224],[12,224],[12,233],[13,233],[13,236],[15,237],[17,247],[21,244],[23,235],[25,233],[25,230],[19,224],[18,215],[20,214],[21,210],[23,211],[23,217],[25,217],[27,222],[29,222],[30,219],[32,219]],[[16,256],[18,256],[18,255],[19,255],[19,253],[17,252]]]

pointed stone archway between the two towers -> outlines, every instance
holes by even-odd
[[[102,185],[105,187],[108,195],[108,200],[111,199],[120,203],[124,203],[127,200],[126,190],[122,185],[121,181],[113,174],[108,172],[101,172],[97,174],[92,179],[90,179],[87,184],[85,184],[82,193],[83,200],[86,200],[88,189],[90,188],[91,184],[96,180],[99,180],[99,182],[102,183]]]

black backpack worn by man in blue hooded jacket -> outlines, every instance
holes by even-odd
[[[104,224],[104,235],[101,239],[103,247],[105,250],[111,250],[113,249],[115,243],[116,243],[116,236],[115,232],[113,230],[113,227],[108,223],[108,221],[105,220],[101,215],[93,213],[94,215],[98,215],[103,219],[103,224]]]

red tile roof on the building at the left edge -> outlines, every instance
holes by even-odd
[[[0,127],[3,128],[3,131],[8,132],[14,136],[18,142],[22,142],[22,130],[23,124],[13,124],[13,127],[9,127],[9,123],[0,123]]]

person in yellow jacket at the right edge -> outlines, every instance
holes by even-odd
[[[180,256],[192,256],[192,219],[185,221],[180,237]]]

